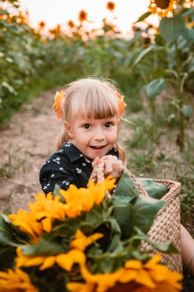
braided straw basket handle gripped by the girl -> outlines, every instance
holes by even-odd
[[[104,182],[104,170],[105,170],[105,163],[104,160],[100,159],[99,163],[94,167],[91,175],[90,175],[90,180],[92,180],[94,183],[98,183],[100,181]],[[132,179],[134,185],[138,189],[139,193],[143,196],[149,197],[145,189],[143,188],[142,184],[137,181],[135,176],[125,167],[125,170],[127,170],[130,178]],[[116,187],[117,185],[115,185]],[[109,191],[106,191],[105,198],[111,198],[112,195],[110,194]]]

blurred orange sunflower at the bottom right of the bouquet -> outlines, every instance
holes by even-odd
[[[182,285],[178,283],[182,280],[182,274],[170,271],[167,267],[159,264],[160,255],[153,256],[146,264],[140,260],[129,260],[120,270],[109,274],[91,274],[87,268],[81,266],[81,275],[85,283],[69,282],[67,289],[71,292],[96,291],[106,292],[110,288],[117,288],[118,282],[121,284],[136,283],[139,287],[132,290],[135,292],[151,291],[171,291],[178,292]],[[115,291],[120,291],[116,290]],[[131,290],[128,290],[131,291]]]

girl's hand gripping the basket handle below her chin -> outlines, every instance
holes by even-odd
[[[105,162],[105,178],[110,175],[115,179],[120,179],[123,173],[123,169],[125,168],[122,161],[118,160],[118,158],[114,155],[103,156],[101,160],[104,160]],[[95,160],[92,162],[93,168],[99,163],[99,161],[99,157],[96,157]]]

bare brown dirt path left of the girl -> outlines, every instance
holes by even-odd
[[[0,210],[8,206],[13,213],[18,208],[28,209],[28,202],[42,191],[39,171],[55,151],[58,130],[63,125],[51,109],[55,92],[60,90],[43,91],[16,113],[9,128],[0,131]]]

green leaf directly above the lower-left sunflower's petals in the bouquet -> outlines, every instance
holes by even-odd
[[[38,245],[20,246],[25,256],[56,256],[65,253],[64,248],[57,242],[39,239]]]

